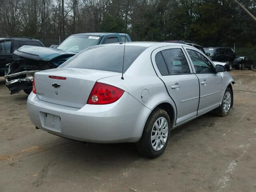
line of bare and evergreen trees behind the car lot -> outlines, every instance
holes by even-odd
[[[239,2],[256,15],[256,0]],[[0,35],[58,41],[63,34],[124,33],[127,16],[133,41],[256,44],[256,22],[234,0],[65,0],[64,14],[61,7],[60,0],[2,0]]]

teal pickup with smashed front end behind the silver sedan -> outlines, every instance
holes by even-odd
[[[128,34],[82,33],[69,36],[56,48],[22,46],[14,51],[13,62],[6,65],[6,86],[15,94],[32,91],[35,72],[57,68],[80,51],[99,44],[130,42]]]

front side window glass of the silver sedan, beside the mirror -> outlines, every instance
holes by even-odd
[[[187,49],[192,60],[196,73],[212,73],[214,68],[211,62],[202,54],[195,50]]]

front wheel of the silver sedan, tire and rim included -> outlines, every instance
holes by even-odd
[[[232,91],[230,90],[229,87],[226,88],[223,100],[222,100],[222,104],[221,106],[217,109],[217,114],[219,116],[226,116],[228,115],[228,113],[230,112],[230,109],[232,107],[232,103],[233,103],[233,94]]]

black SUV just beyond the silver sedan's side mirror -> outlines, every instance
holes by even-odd
[[[233,62],[236,59],[236,52],[230,47],[208,47],[204,48],[206,55],[211,58],[212,61],[226,62],[226,69],[232,70]]]

